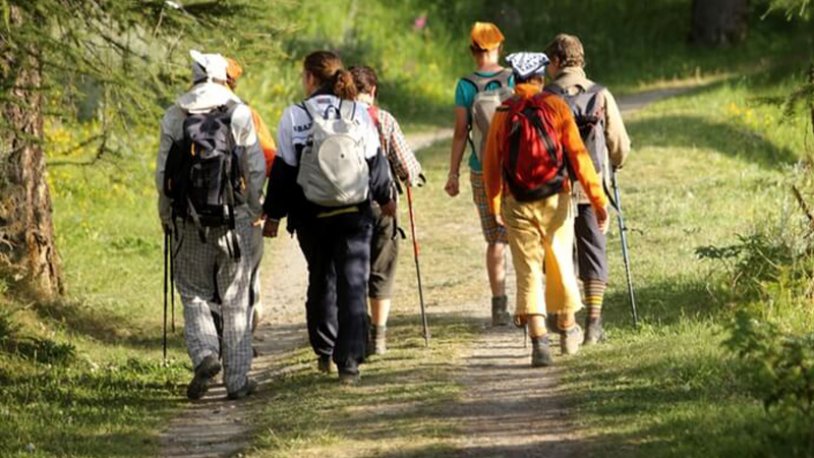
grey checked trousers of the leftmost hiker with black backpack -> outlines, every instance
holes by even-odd
[[[218,356],[218,334],[211,310],[223,320],[223,380],[236,392],[246,384],[251,368],[251,314],[249,281],[252,270],[251,230],[238,221],[235,235],[241,256],[233,259],[225,227],[210,228],[206,242],[191,222],[178,220],[175,250],[175,285],[184,304],[184,337],[194,367],[209,355]]]

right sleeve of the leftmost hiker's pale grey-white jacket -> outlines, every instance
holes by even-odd
[[[249,159],[247,204],[249,215],[252,219],[256,219],[262,212],[260,198],[263,193],[263,184],[266,181],[266,159],[260,149],[260,142],[254,129],[252,111],[247,105],[235,108],[235,112],[232,114],[232,133],[237,145],[246,148]]]

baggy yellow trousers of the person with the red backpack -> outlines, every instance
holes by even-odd
[[[504,199],[502,214],[517,277],[515,315],[567,314],[580,310],[570,193],[561,192],[533,202],[518,202],[509,194]]]

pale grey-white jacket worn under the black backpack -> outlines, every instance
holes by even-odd
[[[238,146],[245,146],[249,155],[248,204],[235,209],[238,220],[256,220],[262,213],[260,197],[266,178],[266,161],[252,122],[252,113],[248,106],[226,86],[206,82],[194,86],[176,100],[175,104],[164,112],[161,120],[161,134],[158,145],[158,158],[155,168],[155,185],[158,190],[158,214],[162,223],[168,224],[172,219],[170,199],[164,195],[164,168],[167,155],[173,142],[184,136],[184,119],[187,113],[206,113],[230,100],[239,105],[232,113],[232,135]]]

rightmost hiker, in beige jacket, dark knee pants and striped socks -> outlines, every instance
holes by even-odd
[[[616,99],[608,89],[585,76],[585,52],[579,38],[561,33],[554,37],[545,52],[551,59],[547,69],[551,81],[546,84],[546,90],[568,102],[594,168],[608,189],[610,167],[613,170],[620,168],[630,152],[630,138]],[[584,344],[592,345],[605,336],[602,302],[608,284],[608,256],[605,232],[599,230],[596,215],[579,183],[575,183],[575,193],[578,204],[574,220],[577,269],[588,309]]]

